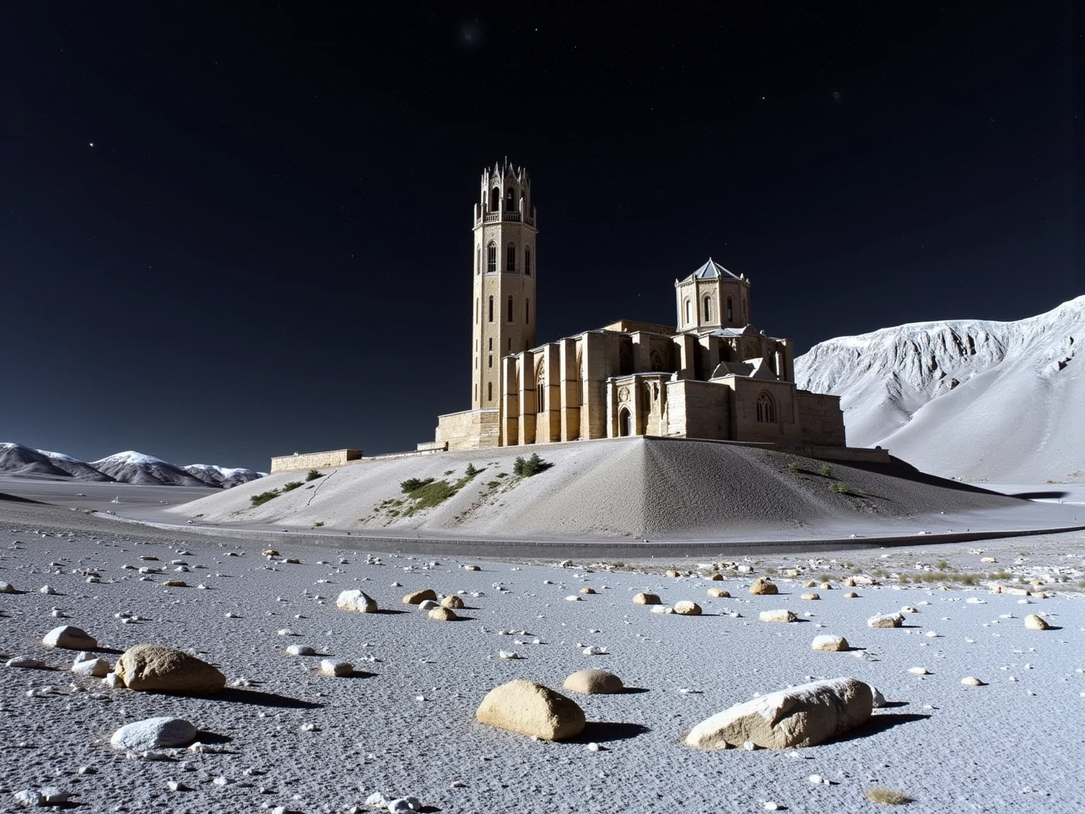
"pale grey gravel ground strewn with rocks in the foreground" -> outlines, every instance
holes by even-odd
[[[282,554],[301,564],[272,563],[228,536],[118,527],[80,512],[0,501],[0,580],[26,592],[0,595],[0,650],[51,667],[0,666],[0,811],[20,810],[12,792],[41,786],[75,792],[80,807],[103,812],[280,805],[341,812],[380,791],[414,794],[444,812],[757,812],[775,802],[829,814],[877,810],[865,798],[876,785],[912,797],[904,809],[910,812],[1085,805],[1085,736],[1068,726],[1085,711],[1081,534],[988,540],[981,548],[750,558],[725,564],[724,582],[660,573],[673,564],[697,573],[699,563],[685,560],[618,571],[589,562],[473,560],[482,570],[467,572],[465,561],[445,558],[380,555],[367,562],[359,551],[305,546]],[[151,565],[186,561],[191,572],[169,576],[193,587],[167,588],[165,574],[141,581],[122,568],[146,564],[140,556],[158,557]],[[981,556],[998,562],[981,563]],[[801,572],[796,580],[782,575],[789,568]],[[102,582],[73,573],[81,569],[97,570]],[[1037,576],[1054,595],[995,595],[955,581],[953,569]],[[844,598],[846,574],[876,570],[884,585],[856,587],[857,598]],[[939,588],[941,577],[917,585],[897,576],[935,573],[946,575],[949,589]],[[802,582],[822,574],[834,589],[819,589],[819,601],[800,600]],[[750,582],[764,575],[777,580],[780,596],[749,595]],[[58,594],[38,593],[43,585]],[[585,585],[598,595],[565,600]],[[354,587],[390,612],[337,611],[335,596]],[[407,610],[401,597],[424,587],[468,592],[469,621],[437,623]],[[735,598],[710,599],[707,587]],[[705,615],[652,614],[631,605],[639,590],[665,602],[693,599]],[[866,626],[868,616],[903,605],[920,610],[907,627]],[[773,608],[789,608],[802,621],[757,621],[760,610]],[[53,618],[53,609],[65,618]],[[118,612],[140,621],[124,624]],[[1029,612],[1045,614],[1055,629],[1024,629]],[[66,672],[74,653],[40,645],[60,624],[85,628],[111,650],[139,643],[191,648],[245,686],[206,699],[105,689]],[[280,628],[297,635],[280,636]],[[856,650],[812,651],[821,633],[843,635]],[[365,672],[322,677],[315,671],[319,658],[286,656],[292,644]],[[584,656],[589,645],[608,652]],[[503,660],[499,650],[523,658]],[[532,741],[474,721],[483,696],[503,682],[532,678],[559,688],[586,666],[615,672],[637,691],[576,697],[590,723],[573,742]],[[910,674],[912,666],[930,674]],[[754,694],[847,675],[895,703],[834,742],[711,753],[680,743],[694,724]],[[965,676],[986,686],[961,686]],[[191,721],[205,732],[202,740],[220,741],[225,751],[146,762],[108,747],[117,727],[155,715]],[[303,730],[305,724],[316,729]],[[589,751],[589,741],[602,749]],[[81,766],[94,773],[80,775]],[[813,785],[814,774],[831,783]],[[193,790],[167,791],[169,780]]]

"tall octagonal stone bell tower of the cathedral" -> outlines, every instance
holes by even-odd
[[[484,169],[474,205],[471,408],[497,408],[501,357],[535,345],[535,206],[527,170]]]

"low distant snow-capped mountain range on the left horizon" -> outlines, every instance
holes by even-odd
[[[71,455],[31,449],[22,444],[0,443],[0,472],[39,478],[74,479],[102,483],[136,483],[151,486],[218,486],[229,488],[263,478],[252,469],[227,469],[209,463],[178,467],[143,453],[117,453],[101,460],[81,461]]]

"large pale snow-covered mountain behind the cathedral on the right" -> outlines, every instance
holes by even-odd
[[[965,480],[1085,478],[1085,296],[1017,322],[962,319],[821,342],[795,381],[841,396],[847,443]]]

